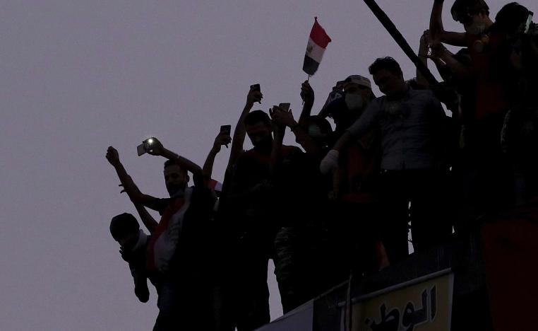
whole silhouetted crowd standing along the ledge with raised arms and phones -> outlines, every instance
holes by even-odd
[[[148,234],[127,213],[114,216],[110,232],[138,299],[148,301],[147,279],[157,289],[153,330],[255,330],[270,320],[269,259],[287,313],[350,275],[405,260],[409,231],[420,253],[536,203],[532,13],[514,2],[491,21],[483,0],[456,0],[450,13],[465,33],[455,33],[443,29],[442,11],[434,0],[418,52],[441,83],[419,71],[406,81],[392,57],[381,57],[369,75],[335,83],[318,115],[302,83],[297,120],[287,103],[252,110],[263,94],[251,86],[233,134],[222,127],[203,167],[156,138],[144,141],[139,154],[167,159],[167,198],[143,194],[109,147],[106,158]],[[371,80],[383,95],[373,95]],[[282,144],[285,134],[300,147]],[[245,151],[246,136],[253,148]],[[230,143],[221,187],[213,162]]]

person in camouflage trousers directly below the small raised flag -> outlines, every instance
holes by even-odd
[[[335,259],[335,240],[330,240],[331,178],[319,171],[333,130],[323,117],[309,115],[314,93],[308,82],[302,83],[301,98],[304,108],[299,123],[291,111],[277,108],[271,113],[275,127],[279,128],[275,132],[283,133],[289,127],[305,151],[294,153],[275,182],[278,192],[282,192],[277,194],[275,205],[285,210],[280,215],[282,228],[275,238],[275,275],[285,313],[342,281]],[[275,154],[282,145],[282,137],[283,134],[275,134]]]

